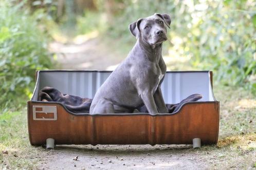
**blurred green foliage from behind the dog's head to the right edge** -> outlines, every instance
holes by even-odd
[[[124,1],[108,31],[134,42],[127,26],[140,17],[168,13],[169,56],[190,59],[196,69],[213,70],[216,80],[256,95],[255,1]],[[168,45],[166,43],[166,45]],[[165,46],[166,46],[165,45]]]

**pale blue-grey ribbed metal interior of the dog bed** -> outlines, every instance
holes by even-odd
[[[56,88],[64,94],[93,98],[111,71],[96,70],[47,70],[38,71],[36,86],[31,98],[38,101],[38,93],[44,87]],[[215,101],[210,71],[167,72],[161,84],[166,103],[178,103],[191,94],[201,94],[199,101]]]

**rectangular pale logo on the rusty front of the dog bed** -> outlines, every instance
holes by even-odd
[[[33,120],[57,120],[57,107],[53,105],[33,105]]]

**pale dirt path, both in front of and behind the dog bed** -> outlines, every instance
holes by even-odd
[[[99,38],[81,45],[54,42],[61,69],[113,70],[123,60]],[[205,169],[191,145],[59,145],[47,151],[40,169]],[[73,160],[78,156],[77,161]]]

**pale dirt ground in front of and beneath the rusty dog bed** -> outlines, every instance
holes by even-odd
[[[204,169],[190,145],[60,145],[44,169]],[[77,160],[73,160],[78,157]]]

